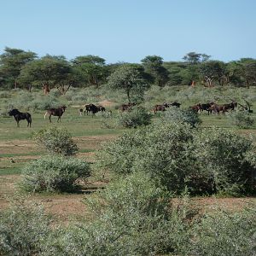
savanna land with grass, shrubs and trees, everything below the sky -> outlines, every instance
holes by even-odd
[[[254,255],[255,74],[253,58],[6,48],[0,253]]]

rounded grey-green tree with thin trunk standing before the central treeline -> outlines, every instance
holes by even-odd
[[[142,96],[148,84],[137,65],[124,64],[108,77],[108,86],[113,90],[125,90],[131,103],[131,94]]]

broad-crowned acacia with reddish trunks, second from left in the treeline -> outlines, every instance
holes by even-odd
[[[61,94],[65,94],[75,83],[76,76],[71,64],[64,56],[46,55],[26,64],[20,72],[19,81],[23,84],[42,86],[44,94],[49,93],[52,87],[57,88]]]

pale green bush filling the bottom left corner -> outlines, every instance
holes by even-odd
[[[0,212],[0,255],[38,255],[49,236],[50,220],[38,204],[14,201]]]

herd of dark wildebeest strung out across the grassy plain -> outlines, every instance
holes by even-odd
[[[154,105],[154,108],[151,109],[152,113],[155,114],[157,112],[163,112],[166,111],[166,108],[180,108],[182,104],[179,102],[172,102],[172,103],[163,103],[163,104],[157,104]],[[240,103],[237,103],[236,101],[232,101],[230,103],[226,104],[217,104],[215,102],[207,102],[207,103],[198,103],[194,106],[189,107],[189,110],[195,112],[195,113],[202,113],[203,111],[207,111],[208,114],[212,113],[226,113],[228,111],[234,111],[237,106],[240,106],[242,110],[247,110],[248,112],[253,112],[250,107],[246,107],[241,105]],[[131,109],[136,106],[136,103],[128,103],[128,104],[122,104],[118,108],[118,112],[128,112],[131,111]],[[44,114],[44,119],[47,115],[49,115],[49,122],[51,122],[51,116],[57,116],[57,122],[61,121],[61,116],[66,110],[66,106],[61,106],[59,108],[49,108],[46,113]],[[94,105],[92,103],[85,104],[84,108],[79,109],[80,115],[84,113],[84,115],[89,115],[91,113],[92,117],[95,116],[98,112],[106,112],[106,108],[104,108],[102,105]],[[111,110],[108,111],[108,113],[112,113]],[[27,127],[31,127],[32,124],[32,115],[30,113],[21,113],[18,109],[14,108],[9,111],[9,116],[13,116],[15,118],[15,121],[17,123],[17,127],[20,127],[19,122],[21,119],[26,119],[27,121]]]

